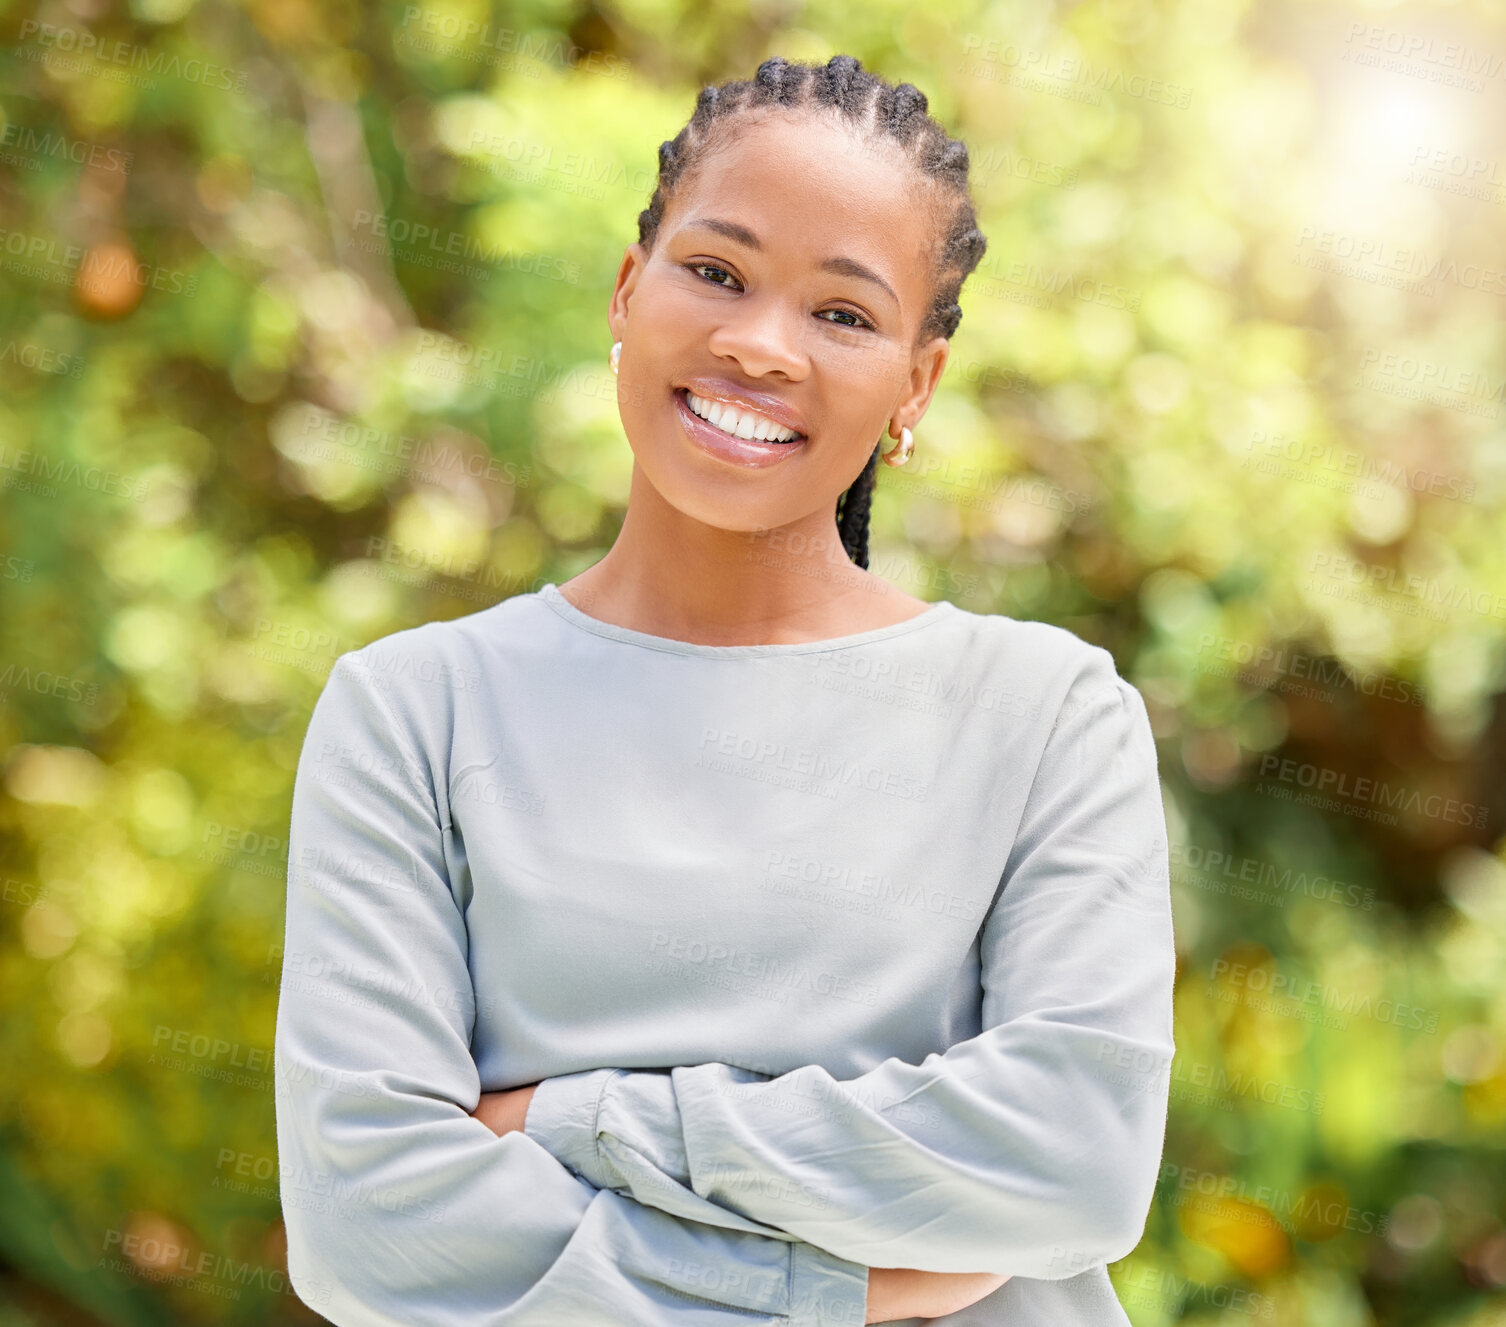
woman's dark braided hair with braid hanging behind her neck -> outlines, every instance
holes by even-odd
[[[771,56],[750,80],[736,80],[700,89],[696,111],[673,139],[660,143],[658,181],[654,197],[639,212],[639,243],[654,247],[675,188],[685,173],[721,146],[735,120],[758,110],[819,111],[834,110],[869,140],[890,137],[908,148],[910,160],[928,179],[940,185],[932,197],[932,215],[944,238],[935,247],[932,300],[916,334],[916,345],[934,336],[950,339],[962,321],[956,303],[962,282],[983,258],[988,241],[977,229],[977,215],[967,187],[967,145],[926,114],[926,95],[913,83],[893,84],[867,72],[855,56],[833,56],[825,65],[791,63]],[[944,230],[943,230],[944,226]],[[861,568],[867,568],[867,517],[873,502],[873,480],[883,438],[875,444],[863,471],[837,499],[837,530],[842,547]]]

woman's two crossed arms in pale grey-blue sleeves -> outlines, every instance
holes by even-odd
[[[361,1327],[730,1327],[748,1310],[816,1327],[940,1316],[1009,1276],[1128,1253],[1164,1131],[1175,950],[1149,723],[1098,655],[980,932],[979,1036],[848,1081],[584,1069],[524,1089],[530,1127],[505,1131],[470,1056],[434,770],[342,657],[294,789],[289,860],[321,851],[289,877],[277,1014],[298,1292]],[[393,871],[413,886],[402,910]],[[309,1173],[375,1200],[313,1217],[289,1182]],[[922,1273],[926,1292],[971,1292],[892,1297]]]

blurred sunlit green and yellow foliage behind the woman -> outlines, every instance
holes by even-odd
[[[334,658],[563,581],[708,81],[989,247],[873,569],[1107,646],[1181,972],[1137,1327],[1506,1324],[1506,5],[0,5],[0,1324],[312,1322],[271,1095]]]

